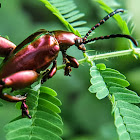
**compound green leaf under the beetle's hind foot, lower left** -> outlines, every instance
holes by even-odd
[[[57,95],[56,92],[46,87],[41,87],[38,91],[29,90],[29,92],[27,104],[32,118],[17,118],[7,124],[5,126],[7,140],[22,138],[61,140],[63,122],[57,114],[61,112],[58,107],[61,102],[54,97]]]

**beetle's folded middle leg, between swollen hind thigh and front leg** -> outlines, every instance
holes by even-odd
[[[44,82],[46,82],[47,79],[52,78],[55,75],[56,70],[57,70],[57,61],[54,60],[52,68],[50,70],[47,69],[43,73],[43,78],[41,80],[41,83],[43,84]]]

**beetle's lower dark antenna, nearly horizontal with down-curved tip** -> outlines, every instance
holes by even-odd
[[[89,42],[96,41],[96,40],[103,40],[103,39],[110,39],[110,38],[117,38],[117,37],[130,39],[136,46],[138,46],[138,42],[133,37],[131,37],[130,35],[125,35],[125,34],[112,34],[112,35],[107,35],[107,36],[95,37],[95,38],[84,41],[82,44],[87,44]]]

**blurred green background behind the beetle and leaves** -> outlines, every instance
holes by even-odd
[[[112,0],[108,0],[110,3]],[[136,24],[133,36],[139,42],[140,38],[140,1],[118,0],[121,8],[127,9],[133,15]],[[77,8],[85,13],[83,20],[87,26],[92,27],[106,13],[94,0],[75,0]],[[122,14],[121,14],[122,15]],[[0,8],[0,35],[18,45],[28,35],[38,29],[66,30],[60,21],[39,0],[2,0]],[[96,30],[94,36],[121,33],[117,24],[110,19],[106,24]],[[89,45],[87,45],[88,47]],[[128,47],[125,39],[110,39],[92,44],[97,52],[110,52]],[[91,49],[91,48],[90,48]],[[77,59],[83,58],[82,53],[71,47],[68,54]],[[119,70],[126,75],[131,86],[129,89],[140,95],[140,61],[133,56],[118,57],[109,60],[100,60],[107,67]],[[58,64],[62,63],[62,56],[58,57]],[[116,130],[111,115],[111,104],[108,99],[98,100],[94,94],[90,94],[89,66],[80,65],[79,69],[73,69],[71,77],[65,77],[60,70],[45,85],[58,93],[62,101],[61,116],[64,121],[64,140],[117,140]],[[15,103],[3,102],[0,107],[0,140],[5,140],[3,127],[10,120],[20,115],[15,108]]]

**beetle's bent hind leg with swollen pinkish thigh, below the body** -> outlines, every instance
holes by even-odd
[[[14,90],[25,88],[35,82],[37,78],[38,74],[33,70],[19,71],[6,78],[3,78],[0,81],[0,98],[10,102],[22,101],[22,115],[31,118],[31,116],[29,115],[28,106],[26,105],[26,96],[12,96],[7,93],[2,93],[2,90],[5,87],[11,87]]]

